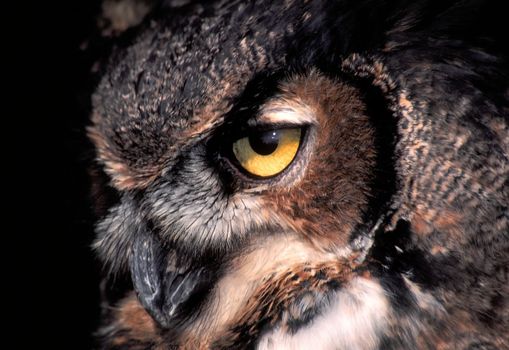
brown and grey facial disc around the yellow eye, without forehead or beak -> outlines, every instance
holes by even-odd
[[[164,162],[157,160],[150,180],[117,170],[132,172],[97,120],[91,136],[122,193],[98,225],[105,256],[128,257],[138,230],[191,259],[225,256],[282,233],[319,250],[348,251],[367,210],[376,158],[360,92],[314,70],[261,83],[275,85],[263,98],[248,90],[217,120],[197,122],[175,135],[169,150],[156,150]],[[119,241],[125,251],[116,249]]]

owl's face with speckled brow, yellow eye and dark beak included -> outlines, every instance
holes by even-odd
[[[344,258],[376,221],[365,93],[316,68],[279,67],[287,58],[259,57],[248,39],[256,37],[205,58],[199,45],[176,58],[171,41],[154,39],[162,46],[148,52],[134,46],[94,96],[89,133],[120,193],[95,247],[112,273],[129,271],[165,327],[226,265],[253,251],[266,256],[274,237],[289,240],[293,250],[274,252],[289,262]],[[205,72],[189,72],[189,61]]]

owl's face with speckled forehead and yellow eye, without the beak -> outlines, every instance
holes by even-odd
[[[94,95],[90,137],[122,197],[98,224],[113,270],[136,230],[202,259],[278,232],[344,250],[366,222],[376,154],[363,93],[310,66],[313,52],[292,52],[290,38],[323,14],[275,5],[281,19],[295,12],[284,23],[237,5],[210,5],[228,23],[161,14]]]

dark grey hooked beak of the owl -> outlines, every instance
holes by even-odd
[[[192,266],[168,264],[169,252],[147,230],[139,232],[130,259],[134,288],[143,307],[163,328],[170,328],[196,304],[197,295],[210,289],[211,274]]]

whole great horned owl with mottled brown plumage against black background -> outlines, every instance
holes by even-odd
[[[93,95],[100,346],[508,348],[497,12],[157,4]]]

